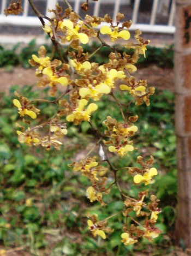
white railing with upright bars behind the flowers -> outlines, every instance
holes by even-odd
[[[32,26],[32,27],[40,27],[41,23],[37,17],[29,15],[29,3],[28,0],[22,1],[22,6],[24,9],[24,13],[18,16],[5,16],[4,9],[8,6],[10,0],[0,0],[0,25],[11,25],[11,26]],[[39,0],[35,1],[37,4],[41,4],[45,11],[44,13],[47,16],[51,16],[49,12],[47,12],[47,8],[53,9],[55,7],[57,0]],[[63,2],[63,1],[62,1]],[[73,6],[74,10],[79,13],[80,4],[84,2],[84,0],[70,0],[69,3]],[[93,2],[93,1],[89,1]],[[120,11],[121,13],[126,13],[128,10],[132,10],[132,16],[128,17],[128,19],[132,19],[132,26],[130,30],[135,30],[139,28],[143,32],[153,32],[153,33],[169,33],[172,34],[175,32],[174,27],[174,16],[175,16],[175,0],[99,0],[95,1],[93,7],[93,15],[99,15],[100,10],[105,10],[107,12],[107,7],[112,10],[113,18],[115,20],[116,14]],[[143,3],[148,4],[148,9],[151,11],[142,11],[141,5]],[[150,4],[149,4],[150,3]],[[151,8],[152,5],[152,8]],[[121,6],[124,6],[126,9],[121,10]],[[38,5],[37,5],[38,7]],[[130,9],[132,8],[132,9]],[[139,17],[141,14],[147,16],[146,23],[144,21],[140,21]],[[160,17],[164,17],[166,22],[160,24]],[[0,32],[1,33],[1,32]]]

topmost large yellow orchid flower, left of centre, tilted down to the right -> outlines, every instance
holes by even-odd
[[[79,30],[80,30],[79,25],[82,25],[82,23],[79,23],[78,25],[74,26],[74,23],[72,21],[64,20],[61,23],[60,27],[61,29],[66,29],[66,34],[67,34],[66,39],[68,41],[79,39],[82,44],[87,44],[89,41],[89,38],[87,34],[79,33]]]

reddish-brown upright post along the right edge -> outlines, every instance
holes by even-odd
[[[191,0],[176,0],[175,127],[178,212],[176,240],[191,248]]]

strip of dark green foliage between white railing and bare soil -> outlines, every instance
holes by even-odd
[[[52,56],[52,48],[50,45],[45,44],[47,53]],[[124,47],[121,47],[120,45],[116,45],[118,48],[118,52],[121,54],[123,52],[126,52],[128,54],[132,54],[132,50],[127,50]],[[85,45],[83,46],[83,49],[85,52],[89,52],[90,54],[94,52],[96,49],[98,49],[99,44],[96,42],[93,42],[92,45]],[[164,48],[158,48],[153,46],[147,46],[146,56],[147,58],[144,58],[142,56],[138,64],[151,64],[155,63],[160,67],[173,67],[173,45],[166,46]],[[29,44],[25,47],[22,47],[20,44],[16,44],[12,47],[12,49],[7,50],[3,45],[0,45],[0,67],[6,67],[10,68],[13,66],[16,66],[20,64],[23,68],[30,68],[30,64],[28,63],[28,59],[31,59],[31,55],[38,55],[38,46],[35,42],[35,39],[31,40]],[[65,48],[62,50],[63,56],[65,52]],[[99,64],[103,64],[108,62],[108,55],[111,52],[111,49],[108,47],[102,47],[93,57],[91,58],[91,61],[97,62]],[[58,57],[57,53],[54,52],[53,57]]]

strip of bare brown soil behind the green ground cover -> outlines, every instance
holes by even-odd
[[[147,79],[148,85],[161,90],[174,91],[173,69],[160,68],[156,64],[141,66],[134,74],[137,79]],[[37,82],[33,68],[14,67],[11,70],[0,68],[0,91],[8,92],[12,85],[34,85]]]

